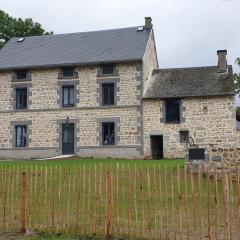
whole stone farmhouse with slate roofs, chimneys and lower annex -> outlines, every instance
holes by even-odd
[[[0,158],[182,158],[190,136],[208,157],[212,146],[236,149],[226,55],[218,51],[215,66],[159,69],[150,17],[12,38],[0,50]]]

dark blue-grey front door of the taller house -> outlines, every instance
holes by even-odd
[[[74,123],[62,125],[62,154],[74,154]]]

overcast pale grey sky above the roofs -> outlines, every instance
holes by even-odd
[[[228,63],[240,57],[240,0],[0,0],[14,17],[31,17],[54,33],[130,27],[153,19],[160,68]]]

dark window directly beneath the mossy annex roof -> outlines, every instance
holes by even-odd
[[[180,123],[180,100],[165,100],[166,123]]]

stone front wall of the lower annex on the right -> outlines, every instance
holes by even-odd
[[[199,147],[208,149],[237,148],[235,107],[233,97],[188,98],[182,100],[182,122],[164,123],[164,101],[144,100],[144,155],[151,156],[150,136],[163,136],[164,157],[184,158],[185,143],[179,131],[188,130]]]

